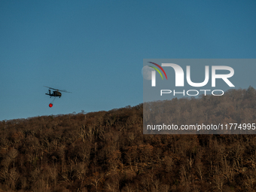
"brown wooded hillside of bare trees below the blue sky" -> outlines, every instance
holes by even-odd
[[[166,102],[176,123],[256,123],[255,101],[249,87]],[[255,191],[254,135],[143,135],[142,123],[142,104],[1,121],[0,191]]]

